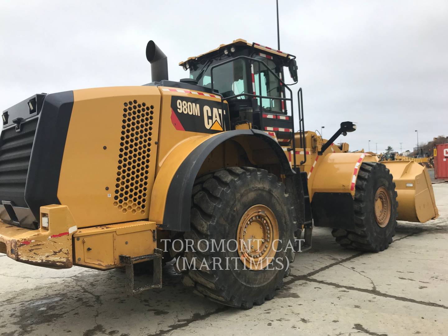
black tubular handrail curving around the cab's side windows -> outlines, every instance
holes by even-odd
[[[292,140],[291,140],[291,142],[292,142],[292,149],[291,148],[289,148],[289,151],[293,151],[293,168],[294,168],[294,171],[295,171],[295,169],[296,169],[296,155],[295,155],[295,150],[296,150],[296,142],[295,142],[295,136],[294,136],[294,110],[293,110],[293,91],[289,88],[289,86],[288,85],[286,85],[285,84],[285,82],[283,82],[283,80],[280,78],[280,77],[278,77],[277,76],[277,74],[275,73],[275,72],[273,72],[267,65],[266,65],[266,63],[264,63],[262,60],[257,60],[257,59],[255,59],[255,58],[252,58],[252,57],[249,57],[249,56],[237,56],[237,57],[235,57],[235,58],[231,58],[231,59],[229,59],[229,60],[226,60],[226,61],[224,61],[224,62],[221,62],[221,63],[218,63],[218,64],[215,64],[215,65],[213,65],[211,68],[210,68],[210,81],[211,81],[211,90],[213,91],[214,90],[214,88],[213,88],[213,69],[215,69],[216,67],[218,67],[218,66],[221,66],[221,65],[224,65],[224,64],[227,64],[227,63],[230,63],[230,62],[233,62],[233,61],[235,61],[235,60],[238,60],[238,59],[246,59],[246,60],[250,60],[250,61],[253,61],[253,62],[258,62],[258,69],[260,69],[260,64],[263,64],[264,66],[265,66],[265,68],[270,72],[270,73],[272,73],[279,81],[280,81],[280,83],[281,84],[283,84],[283,86],[289,91],[289,96],[291,97],[291,98],[285,98],[285,97],[270,97],[270,96],[263,96],[263,95],[255,95],[255,93],[254,94],[250,94],[250,93],[241,93],[241,94],[239,94],[239,95],[233,95],[233,96],[229,96],[229,97],[225,97],[225,98],[223,98],[223,100],[224,99],[231,99],[231,98],[237,98],[237,97],[240,97],[240,96],[248,96],[248,97],[255,97],[255,98],[259,98],[260,99],[260,103],[261,103],[261,99],[278,99],[278,100],[285,100],[285,101],[291,101],[291,122],[293,123],[293,126],[292,126]],[[258,76],[258,91],[261,93],[261,76]]]

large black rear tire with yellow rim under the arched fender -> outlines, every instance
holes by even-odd
[[[185,252],[184,257],[189,263],[196,259],[197,269],[185,270],[183,283],[224,305],[249,309],[263,304],[283,286],[287,266],[293,260],[294,252],[287,248],[289,241],[293,247],[293,223],[292,197],[266,170],[232,167],[198,178],[193,190],[191,231],[184,234],[185,239],[194,241],[196,250]],[[221,240],[224,245],[240,241],[238,237],[246,239],[246,233],[263,238],[266,244],[249,246],[244,253],[240,249],[231,251],[233,246],[202,248],[204,252],[197,249],[198,244],[212,246],[212,241],[216,246]],[[270,244],[275,237],[280,242],[272,250]],[[250,258],[263,257],[273,257],[274,263],[266,267],[262,262],[258,268],[250,263]],[[215,260],[221,261],[223,269],[213,264]],[[225,260],[231,261],[226,265]],[[275,260],[280,260],[283,267]],[[208,267],[198,267],[203,263]]]

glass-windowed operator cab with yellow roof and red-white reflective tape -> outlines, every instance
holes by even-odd
[[[231,128],[250,123],[288,144],[293,125],[285,98],[283,68],[288,66],[297,82],[295,56],[237,39],[205,54],[179,63],[190,70],[190,81],[223,95]]]

